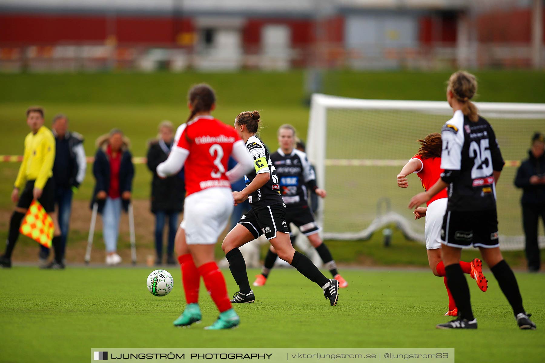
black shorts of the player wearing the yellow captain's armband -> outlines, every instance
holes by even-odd
[[[245,226],[254,238],[265,235],[265,238],[272,239],[276,237],[276,232],[289,233],[284,204],[259,208],[257,211],[251,209],[237,224]]]

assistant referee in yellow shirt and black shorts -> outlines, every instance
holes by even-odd
[[[49,128],[44,126],[44,110],[41,107],[27,109],[27,124],[31,132],[25,138],[25,153],[15,180],[11,200],[17,204],[9,222],[8,241],[0,266],[11,267],[11,253],[19,237],[19,227],[28,207],[37,199],[49,213],[58,235],[57,218],[54,216],[53,162],[55,160],[55,138]],[[22,192],[21,192],[22,190]],[[21,195],[19,193],[21,192]],[[53,245],[58,241],[53,238]]]

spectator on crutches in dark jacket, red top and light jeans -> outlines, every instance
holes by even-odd
[[[106,244],[106,264],[121,262],[117,254],[119,218],[121,208],[128,211],[131,201],[132,178],[135,174],[130,141],[121,130],[114,128],[109,134],[96,139],[93,175],[96,180],[91,207],[98,203],[102,215],[102,235]]]

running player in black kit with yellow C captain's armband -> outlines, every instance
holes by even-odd
[[[265,235],[275,248],[278,256],[295,267],[307,279],[316,282],[324,291],[330,304],[336,305],[338,300],[337,280],[326,278],[311,260],[295,251],[289,240],[286,222],[286,205],[280,195],[280,186],[269,151],[256,136],[259,126],[259,112],[243,112],[235,119],[235,130],[245,141],[246,148],[253,157],[255,171],[245,176],[246,188],[241,192],[233,192],[235,203],[248,199],[251,210],[240,219],[240,222],[223,240],[221,248],[229,261],[229,269],[239,286],[232,303],[253,303],[255,296],[250,288],[246,263],[239,247]]]

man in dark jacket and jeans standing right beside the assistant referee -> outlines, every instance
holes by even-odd
[[[55,258],[47,263],[49,248],[40,246],[40,266],[42,268],[64,268],[64,253],[70,225],[72,194],[77,192],[87,169],[83,136],[68,131],[68,118],[58,114],[53,118],[51,131],[55,137],[55,161],[53,180],[55,181],[55,204],[60,227],[60,243],[54,247]]]

